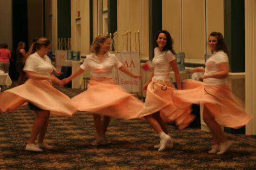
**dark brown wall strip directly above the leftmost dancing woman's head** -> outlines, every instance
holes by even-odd
[[[27,0],[28,44],[43,37],[43,0]]]

